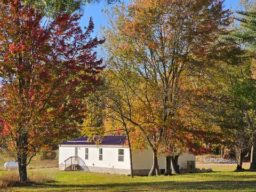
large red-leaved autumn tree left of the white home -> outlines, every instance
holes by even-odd
[[[85,32],[79,14],[46,21],[22,1],[0,1],[0,145],[18,161],[19,178],[54,138],[75,135],[86,110],[82,100],[100,82],[94,48],[103,41]]]

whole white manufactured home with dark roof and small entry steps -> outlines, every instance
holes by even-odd
[[[130,153],[125,146],[126,135],[106,135],[99,145],[87,141],[87,137],[65,141],[59,145],[59,167],[61,170],[81,170],[98,173],[130,174]],[[187,172],[191,163],[195,166],[196,157],[183,154],[178,164],[182,172]],[[150,149],[136,150],[132,154],[134,175],[148,175],[153,164]],[[161,171],[165,158],[158,158]]]

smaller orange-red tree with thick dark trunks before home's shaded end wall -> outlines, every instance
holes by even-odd
[[[203,77],[197,79],[204,81]],[[178,158],[181,154],[207,154],[211,150],[209,145],[219,143],[220,129],[204,110],[205,102],[209,100],[207,91],[197,79],[182,86],[182,108],[175,111],[173,118],[167,119],[163,139],[158,147],[159,152],[166,156],[166,162],[171,161],[175,174],[180,173]],[[170,163],[165,166],[164,174],[169,175]]]

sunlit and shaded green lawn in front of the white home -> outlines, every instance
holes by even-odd
[[[213,173],[184,174],[171,177],[135,177],[123,175],[64,172],[56,168],[36,169],[56,180],[54,183],[13,187],[4,191],[256,191],[256,173],[233,172],[235,165],[198,165],[212,167]],[[248,167],[248,164],[244,166]],[[3,171],[2,171],[3,172]],[[1,174],[1,172],[0,172]]]

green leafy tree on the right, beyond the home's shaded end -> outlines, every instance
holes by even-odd
[[[255,85],[250,62],[241,57],[237,65],[221,63],[206,76],[206,113],[221,129],[221,145],[228,146],[242,170],[243,158],[249,153],[255,134]],[[242,60],[241,60],[242,59]],[[208,79],[207,79],[208,78]]]

